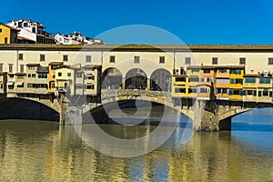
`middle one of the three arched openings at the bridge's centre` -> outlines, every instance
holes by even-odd
[[[126,89],[147,89],[147,74],[139,68],[134,68],[126,73]]]

